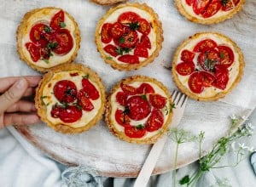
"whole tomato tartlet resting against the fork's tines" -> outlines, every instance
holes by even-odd
[[[127,142],[153,144],[172,121],[168,89],[150,77],[134,76],[117,83],[108,96],[110,131]]]

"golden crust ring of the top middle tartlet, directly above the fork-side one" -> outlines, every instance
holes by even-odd
[[[155,41],[156,48],[155,48],[153,54],[148,56],[148,58],[144,59],[143,61],[140,61],[138,64],[117,63],[114,59],[109,58],[109,54],[106,54],[103,50],[101,34],[100,34],[102,25],[105,23],[106,19],[108,19],[108,17],[111,16],[111,14],[113,14],[113,12],[115,12],[116,10],[118,10],[120,8],[125,8],[125,7],[140,8],[140,9],[148,12],[148,14],[150,14],[154,18],[154,21],[151,22],[151,25],[153,27],[152,30],[154,30],[154,32],[156,34],[156,41]],[[137,70],[137,69],[151,63],[159,55],[160,49],[162,48],[163,41],[164,41],[164,37],[163,37],[162,23],[159,20],[159,16],[158,16],[158,14],[156,14],[154,12],[154,9],[148,7],[148,5],[146,3],[143,3],[143,4],[140,4],[140,3],[119,4],[119,6],[109,9],[107,14],[105,14],[102,17],[102,19],[99,20],[99,22],[96,26],[97,50],[100,52],[102,59],[104,59],[104,61],[107,64],[111,65],[113,67],[113,69],[117,69],[119,71]]]

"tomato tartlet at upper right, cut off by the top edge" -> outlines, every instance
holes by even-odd
[[[230,19],[241,10],[245,0],[175,0],[175,3],[188,20],[215,24]]]

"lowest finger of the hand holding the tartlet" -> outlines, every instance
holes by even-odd
[[[3,116],[4,126],[8,125],[30,125],[39,122],[36,114],[5,114]]]

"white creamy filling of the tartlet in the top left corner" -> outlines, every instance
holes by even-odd
[[[27,20],[28,24],[26,26],[25,31],[23,32],[24,37],[22,39],[22,52],[26,56],[26,59],[29,59],[33,65],[37,65],[38,67],[43,67],[43,68],[49,68],[49,67],[53,67],[55,65],[60,65],[60,64],[64,63],[65,61],[67,61],[67,59],[70,59],[75,51],[75,48],[76,48],[76,42],[75,42],[75,37],[74,37],[75,26],[73,24],[73,20],[70,20],[70,18],[67,16],[67,14],[64,15],[64,22],[66,24],[65,29],[70,31],[70,34],[73,37],[73,48],[67,54],[60,55],[60,54],[55,54],[54,52],[52,52],[52,54],[54,54],[54,55],[49,57],[49,63],[46,63],[43,59],[38,59],[37,62],[34,62],[31,58],[31,55],[29,54],[28,50],[26,49],[26,46],[25,46],[26,42],[31,42],[31,40],[29,38],[29,33],[32,29],[32,26],[35,26],[38,23],[44,23],[45,25],[49,26],[49,22],[52,19],[52,17],[59,11],[60,11],[60,9],[46,9],[46,10],[43,9],[43,10],[33,14],[33,16],[31,16]]]

